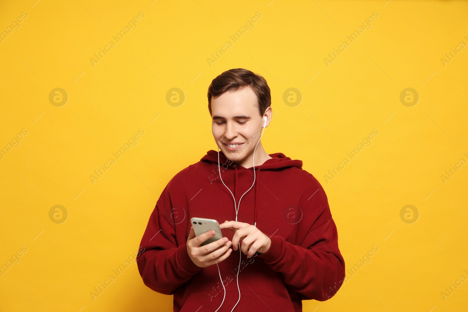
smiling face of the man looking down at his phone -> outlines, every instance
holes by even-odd
[[[257,96],[250,87],[212,98],[212,133],[227,159],[241,161],[254,151],[263,126],[256,104]]]

